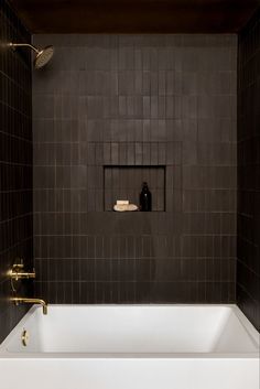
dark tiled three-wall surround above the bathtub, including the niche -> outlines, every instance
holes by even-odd
[[[33,93],[30,53],[0,51],[0,341],[28,309],[7,270],[33,249],[50,303],[238,302],[259,328],[259,31],[258,12],[238,42],[37,34],[55,56]],[[30,39],[0,1],[1,42]],[[104,212],[144,171],[156,212]]]

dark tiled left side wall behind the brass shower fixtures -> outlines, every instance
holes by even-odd
[[[0,342],[28,309],[7,301],[7,270],[15,257],[33,266],[31,61],[29,52],[2,45],[11,41],[30,42],[30,34],[0,1]],[[20,293],[30,289],[24,283]]]

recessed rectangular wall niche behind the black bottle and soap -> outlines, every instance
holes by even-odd
[[[165,210],[165,166],[104,166],[104,209],[112,210],[117,199],[139,206],[142,183],[152,193],[152,212]]]

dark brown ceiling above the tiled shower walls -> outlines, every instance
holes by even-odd
[[[260,0],[12,0],[32,33],[237,33]]]

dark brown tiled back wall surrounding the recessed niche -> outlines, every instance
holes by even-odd
[[[235,302],[236,35],[34,35],[35,293]],[[165,165],[165,212],[104,212],[104,166]],[[141,185],[140,179],[140,185]]]

